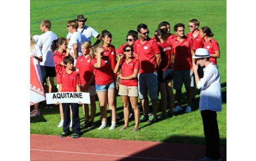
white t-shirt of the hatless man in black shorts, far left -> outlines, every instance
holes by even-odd
[[[53,61],[53,52],[51,51],[52,41],[57,39],[57,35],[52,31],[48,31],[40,35],[37,40],[37,45],[40,46],[42,51],[43,66],[55,66]]]

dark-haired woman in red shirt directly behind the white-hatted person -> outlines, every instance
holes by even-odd
[[[202,27],[199,30],[199,35],[203,38],[203,48],[207,49],[210,56],[210,62],[217,67],[217,58],[220,58],[219,43],[213,39],[213,33],[209,27]]]

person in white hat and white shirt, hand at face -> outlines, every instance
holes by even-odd
[[[221,111],[219,71],[213,63],[210,63],[210,54],[207,49],[197,49],[192,58],[196,60],[196,64],[193,62],[195,82],[198,89],[201,89],[199,110],[201,111],[201,117],[203,119],[206,141],[205,157],[200,160],[221,160],[219,128],[216,113],[217,111]],[[204,67],[204,76],[201,79],[198,76],[198,65]]]

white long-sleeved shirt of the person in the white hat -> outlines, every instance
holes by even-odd
[[[198,89],[201,89],[200,111],[221,111],[220,75],[213,63],[204,68],[204,77],[198,82]]]

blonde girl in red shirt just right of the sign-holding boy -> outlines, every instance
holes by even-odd
[[[90,93],[91,101],[91,121],[89,118],[89,107],[88,104],[83,103],[83,114],[85,115],[85,124],[82,128],[93,128],[95,127],[94,118],[96,113],[95,103],[95,76],[93,74],[93,67],[90,64],[90,49],[91,42],[85,41],[81,45],[82,55],[78,56],[76,61],[76,71],[80,74],[80,89],[82,92]]]

